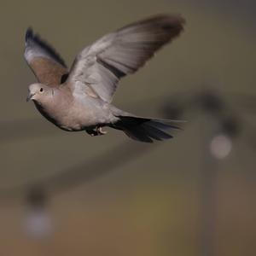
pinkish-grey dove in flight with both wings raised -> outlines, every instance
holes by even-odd
[[[25,59],[38,79],[29,86],[27,101],[65,131],[105,134],[102,127],[124,131],[140,142],[171,138],[175,120],[138,117],[111,102],[119,79],[143,67],[154,52],[183,31],[180,15],[157,15],[124,26],[85,47],[70,70],[55,49],[29,28]]]

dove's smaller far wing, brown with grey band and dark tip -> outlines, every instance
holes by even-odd
[[[31,28],[26,31],[24,56],[39,83],[55,87],[67,77],[67,67],[61,56],[38,35],[34,35]]]

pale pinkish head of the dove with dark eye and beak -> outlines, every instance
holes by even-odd
[[[54,89],[44,84],[31,84],[28,87],[26,101],[44,102],[54,95]]]

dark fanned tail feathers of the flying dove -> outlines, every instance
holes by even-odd
[[[146,119],[132,116],[118,116],[113,128],[122,130],[128,137],[143,143],[153,143],[153,140],[166,140],[172,138],[167,130],[181,130],[175,120]]]

